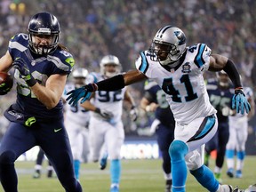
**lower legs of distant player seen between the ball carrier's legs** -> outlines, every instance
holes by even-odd
[[[39,179],[41,177],[43,161],[44,161],[44,150],[42,148],[39,148],[38,154],[36,156],[35,172],[33,174],[34,179]],[[47,178],[52,178],[52,174],[53,174],[53,167],[51,162],[48,160],[47,174],[46,174]]]

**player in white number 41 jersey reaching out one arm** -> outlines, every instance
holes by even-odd
[[[235,86],[232,108],[237,113],[250,111],[240,75],[232,60],[212,54],[206,44],[187,46],[180,28],[164,26],[156,32],[150,48],[140,52],[135,70],[113,76],[96,84],[87,84],[68,92],[68,103],[76,105],[95,91],[115,91],[125,85],[153,79],[164,90],[175,124],[174,140],[169,148],[172,164],[172,192],[186,191],[187,166],[196,180],[211,192],[232,191],[220,185],[212,171],[204,165],[202,146],[217,131],[216,109],[212,107],[204,84],[204,71],[224,70]]]

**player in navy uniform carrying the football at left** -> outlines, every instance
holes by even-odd
[[[75,60],[59,44],[60,23],[49,12],[39,12],[28,24],[28,34],[12,37],[0,59],[0,71],[14,68],[17,100],[4,112],[11,124],[0,146],[0,180],[4,191],[18,191],[15,160],[40,146],[66,191],[82,191],[76,180],[60,100]]]

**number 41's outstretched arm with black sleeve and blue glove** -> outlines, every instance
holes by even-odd
[[[76,106],[77,102],[83,103],[91,97],[92,92],[96,91],[116,91],[123,89],[124,86],[140,82],[147,77],[139,70],[132,70],[124,73],[123,75],[113,76],[106,80],[97,82],[96,84],[86,84],[81,88],[68,92],[67,100],[69,105]]]

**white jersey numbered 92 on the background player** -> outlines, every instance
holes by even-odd
[[[105,77],[102,76],[100,73],[91,73],[86,77],[86,84],[96,83],[104,79]],[[126,87],[114,92],[97,91],[95,92],[95,97],[92,100],[92,103],[96,108],[105,109],[112,112],[114,117],[110,120],[110,122],[116,124],[116,122],[122,120],[123,100],[125,91]],[[92,112],[92,116],[102,119],[99,114],[94,112]]]

